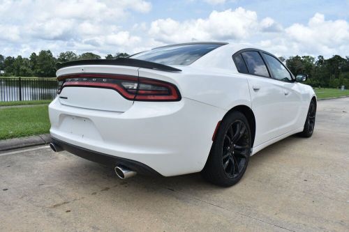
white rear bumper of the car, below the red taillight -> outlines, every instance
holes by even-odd
[[[125,112],[70,107],[56,99],[49,106],[50,133],[66,144],[177,176],[203,169],[225,112],[187,98],[134,102]]]

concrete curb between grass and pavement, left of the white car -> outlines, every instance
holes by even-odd
[[[51,141],[50,134],[39,134],[30,137],[0,140],[0,151],[25,148],[27,146],[44,145],[49,144]]]

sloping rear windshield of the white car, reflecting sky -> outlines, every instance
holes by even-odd
[[[190,65],[205,54],[211,52],[223,44],[192,44],[192,45],[173,45],[168,47],[159,47],[147,52],[141,52],[129,56],[132,59],[151,61],[164,65]]]

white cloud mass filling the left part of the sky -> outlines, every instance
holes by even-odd
[[[122,24],[132,13],[151,10],[151,3],[144,0],[0,0],[0,6],[1,53],[12,55],[28,55],[24,53],[30,47],[36,52],[52,49],[55,54],[67,49],[133,52],[141,39]]]

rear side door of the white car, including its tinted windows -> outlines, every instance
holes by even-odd
[[[244,49],[234,54],[233,59],[239,72],[246,73],[252,110],[255,114],[253,146],[258,146],[283,133],[283,87],[279,85],[279,81],[272,79],[258,50]]]

